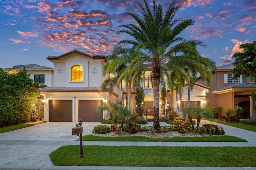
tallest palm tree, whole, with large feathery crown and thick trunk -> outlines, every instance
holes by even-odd
[[[144,0],[144,3],[146,9],[138,4],[142,9],[142,19],[136,14],[127,12],[126,14],[130,15],[136,21],[136,24],[121,25],[120,27],[126,29],[118,31],[119,34],[126,33],[133,39],[123,39],[118,44],[128,43],[135,46],[140,52],[140,56],[134,56],[131,60],[128,66],[128,68],[130,67],[129,70],[136,73],[136,70],[144,65],[147,70],[152,71],[153,126],[156,132],[160,132],[160,79],[164,75],[167,76],[168,70],[173,66],[170,58],[178,55],[184,49],[191,49],[190,43],[202,46],[204,44],[198,40],[185,40],[178,36],[181,31],[194,23],[192,19],[174,19],[181,5],[172,2],[163,14],[162,5],[157,5],[155,0],[153,0],[152,11],[146,0]]]

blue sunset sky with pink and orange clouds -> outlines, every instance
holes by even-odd
[[[152,6],[153,0],[146,0]],[[156,0],[164,11],[172,0]],[[38,64],[54,67],[48,56],[77,49],[90,55],[111,55],[120,25],[134,23],[143,0],[0,0],[0,68]],[[176,18],[193,19],[180,36],[198,39],[200,55],[216,66],[234,62],[239,46],[256,41],[256,0],[176,0]]]

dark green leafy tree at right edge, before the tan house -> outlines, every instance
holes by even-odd
[[[245,77],[250,77],[251,80],[256,79],[256,41],[253,43],[241,44],[240,49],[244,49],[240,53],[235,53],[233,59],[235,59],[233,65],[234,68],[232,72],[235,74],[234,78],[240,77],[240,75]],[[256,83],[254,81],[254,83]],[[256,98],[255,91],[251,93],[252,100],[254,101],[254,112],[252,114],[252,119],[256,120]]]

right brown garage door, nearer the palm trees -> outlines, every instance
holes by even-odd
[[[96,111],[102,100],[79,100],[78,117],[82,121],[98,122],[102,119],[102,113]]]

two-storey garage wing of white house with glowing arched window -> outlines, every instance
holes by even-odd
[[[108,92],[101,91],[106,57],[91,56],[74,49],[47,59],[54,63],[54,84],[38,89],[45,99],[44,120],[97,122],[106,118],[105,113],[96,111],[109,98]]]

